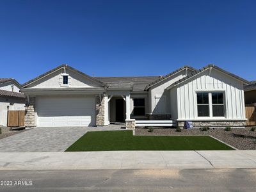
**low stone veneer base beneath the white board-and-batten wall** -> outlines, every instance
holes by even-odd
[[[177,121],[177,125],[179,127],[184,127],[184,121]],[[246,125],[246,121],[241,120],[221,120],[221,121],[192,121],[193,127],[244,127]]]

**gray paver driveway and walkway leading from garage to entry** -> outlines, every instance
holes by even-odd
[[[63,152],[88,131],[124,130],[106,127],[36,127],[0,140],[0,152]]]

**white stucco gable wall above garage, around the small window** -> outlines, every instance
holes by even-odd
[[[63,88],[67,86],[63,86],[63,77],[61,74],[64,73],[64,69],[60,68],[56,72],[49,74],[48,76],[43,77],[42,79],[38,79],[34,83],[28,85],[28,88]],[[99,87],[98,83],[93,82],[91,79],[87,79],[72,70],[66,69],[66,74],[68,74],[68,83],[70,88],[90,88],[90,87]]]

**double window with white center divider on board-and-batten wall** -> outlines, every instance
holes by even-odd
[[[223,95],[221,92],[196,93],[198,116],[225,116]]]

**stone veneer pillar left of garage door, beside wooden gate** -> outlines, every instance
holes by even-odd
[[[36,97],[29,97],[29,104],[25,107],[25,127],[35,127]]]

